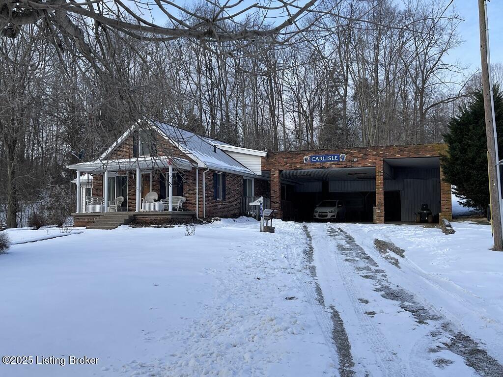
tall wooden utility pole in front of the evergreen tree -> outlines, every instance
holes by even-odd
[[[499,176],[499,157],[494,120],[492,79],[489,60],[489,29],[487,28],[487,1],[478,0],[478,15],[480,23],[480,60],[482,63],[482,88],[484,93],[485,133],[487,136],[487,151],[489,170],[489,192],[491,198],[491,221],[494,238],[494,250],[503,251],[501,224],[501,179]]]

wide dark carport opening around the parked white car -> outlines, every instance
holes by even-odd
[[[284,170],[280,180],[284,220],[313,221],[318,204],[338,200],[346,209],[345,221],[372,221],[375,167]]]

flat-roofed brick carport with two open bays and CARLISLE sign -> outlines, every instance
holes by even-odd
[[[271,208],[284,220],[310,220],[322,199],[347,201],[348,221],[410,222],[423,203],[452,219],[451,185],[440,168],[445,144],[268,152]],[[370,216],[372,206],[372,216]]]

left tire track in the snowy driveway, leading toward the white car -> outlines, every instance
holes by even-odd
[[[325,343],[331,350],[330,356],[333,363],[338,366],[339,375],[341,377],[354,377],[355,363],[353,361],[351,344],[344,327],[344,322],[333,305],[330,305],[328,308],[325,305],[323,293],[317,280],[316,266],[313,263],[314,249],[312,247],[312,237],[305,225],[303,226],[303,230],[307,237],[307,246],[303,249],[302,253],[294,253],[294,249],[299,246],[289,246],[287,248],[288,263],[295,271],[299,286],[302,288],[313,310],[325,338]],[[308,273],[304,272],[305,269],[307,269]],[[311,281],[306,280],[312,281],[311,287],[308,284]]]

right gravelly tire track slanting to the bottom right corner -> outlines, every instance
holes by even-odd
[[[355,263],[359,256],[361,260],[369,262],[370,265],[378,266],[374,259],[356,243],[354,237],[343,229],[332,227],[329,230],[329,234],[336,239],[344,240],[348,244],[348,248],[339,244],[340,249],[349,251],[349,254],[352,254],[354,257],[351,260],[346,259],[346,261]],[[396,288],[392,288],[386,274],[384,274],[384,271],[381,271],[374,269],[374,272],[377,273],[369,274],[365,277],[371,278],[376,282],[376,291],[381,292],[383,298],[399,302],[399,306],[411,313],[416,322],[421,325],[427,325],[427,321],[432,321],[435,327],[435,330],[430,332],[432,341],[437,340],[441,346],[439,347],[439,344],[437,344],[437,348],[431,348],[430,352],[446,349],[461,356],[465,364],[473,368],[479,375],[484,377],[501,377],[503,375],[503,365],[490,356],[480,343],[462,331],[455,329],[454,325],[434,306],[429,304],[423,305],[412,293],[401,287],[396,286]],[[417,349],[417,347],[414,348]]]

